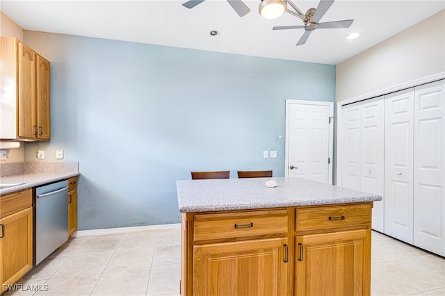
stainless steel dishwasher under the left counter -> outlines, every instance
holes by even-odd
[[[68,181],[35,188],[34,265],[68,240]]]

